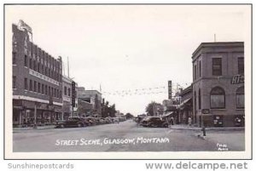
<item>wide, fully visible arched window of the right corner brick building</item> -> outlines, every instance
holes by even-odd
[[[224,109],[225,108],[225,92],[223,88],[212,88],[211,91],[211,108]]]

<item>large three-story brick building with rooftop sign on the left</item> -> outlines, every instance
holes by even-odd
[[[53,123],[61,116],[62,61],[32,42],[32,29],[13,24],[13,124]]]

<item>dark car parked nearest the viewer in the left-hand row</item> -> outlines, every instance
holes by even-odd
[[[82,117],[68,117],[67,120],[58,121],[55,128],[84,127],[84,119]]]

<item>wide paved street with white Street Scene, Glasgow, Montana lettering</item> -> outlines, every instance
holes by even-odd
[[[143,128],[133,121],[87,128],[14,130],[14,151],[244,151],[243,131]],[[159,139],[157,139],[159,138]]]

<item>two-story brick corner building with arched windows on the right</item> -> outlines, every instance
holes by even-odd
[[[201,43],[192,60],[194,123],[243,126],[244,43]]]

